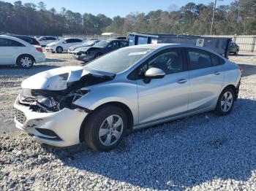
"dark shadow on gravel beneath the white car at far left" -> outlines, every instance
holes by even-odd
[[[34,74],[37,74],[41,71],[46,71],[49,69],[56,69],[60,66],[48,66],[48,65],[41,65],[36,64],[31,69],[21,69],[18,66],[0,66],[0,78],[1,77],[28,77]]]

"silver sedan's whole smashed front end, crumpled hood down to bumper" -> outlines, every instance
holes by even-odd
[[[65,69],[66,68],[66,69]],[[29,77],[15,101],[16,128],[41,144],[67,147],[80,142],[80,126],[91,112],[73,104],[90,86],[108,82],[113,74],[81,69],[53,69]]]

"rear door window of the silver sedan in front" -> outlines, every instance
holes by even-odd
[[[203,69],[211,67],[211,56],[208,52],[197,49],[188,49],[189,69]]]

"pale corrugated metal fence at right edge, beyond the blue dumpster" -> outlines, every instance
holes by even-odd
[[[212,37],[228,37],[236,42],[241,51],[256,51],[256,35],[211,35]]]

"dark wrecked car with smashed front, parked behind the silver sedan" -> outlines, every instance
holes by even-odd
[[[89,62],[105,55],[113,50],[118,50],[121,47],[128,47],[128,40],[110,39],[102,40],[92,47],[86,47],[84,50],[79,52],[74,52],[73,57],[79,61]]]

